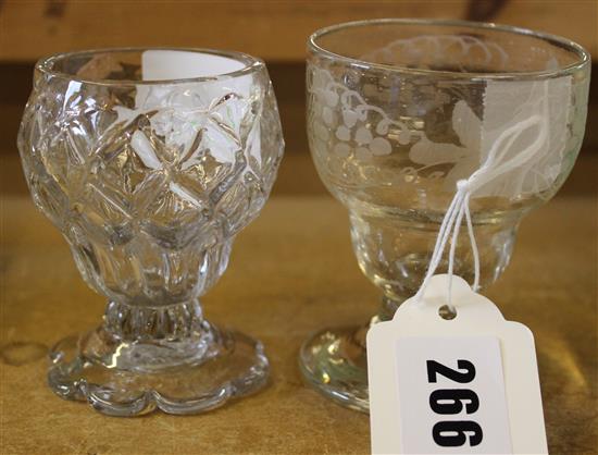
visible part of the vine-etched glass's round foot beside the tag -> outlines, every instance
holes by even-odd
[[[317,392],[362,413],[370,411],[365,334],[369,324],[326,329],[301,346],[299,367]]]

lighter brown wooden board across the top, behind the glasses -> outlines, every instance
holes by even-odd
[[[315,29],[373,17],[483,19],[562,35],[598,56],[594,0],[475,1],[488,7],[472,8],[466,0],[8,0],[0,10],[0,60],[98,47],[186,46],[300,61]]]

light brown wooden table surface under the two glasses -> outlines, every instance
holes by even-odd
[[[205,315],[261,339],[263,392],[207,415],[110,418],[46,386],[46,352],[99,322],[59,235],[26,195],[1,199],[0,447],[2,454],[366,453],[369,418],[302,384],[308,334],[361,322],[379,295],[361,274],[342,207],[327,196],[277,196],[244,231]],[[487,295],[536,337],[551,453],[595,453],[597,200],[558,197],[523,222],[512,263]]]

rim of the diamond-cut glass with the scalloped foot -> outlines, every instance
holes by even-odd
[[[227,73],[221,73],[211,76],[196,76],[196,77],[179,77],[179,78],[170,78],[170,79],[147,79],[147,81],[136,81],[130,78],[124,79],[110,79],[110,78],[89,78],[89,77],[79,77],[75,74],[70,74],[64,71],[58,71],[52,67],[52,64],[61,59],[68,59],[73,57],[83,57],[83,56],[94,56],[97,53],[116,53],[116,52],[144,52],[148,50],[170,50],[177,52],[196,52],[196,53],[207,53],[210,56],[224,57],[237,62],[244,63],[244,67]],[[92,84],[92,85],[105,85],[105,86],[116,86],[116,85],[175,85],[175,84],[188,84],[188,83],[202,83],[202,82],[215,82],[215,81],[225,81],[232,79],[248,74],[256,73],[265,67],[265,63],[259,57],[249,56],[248,53],[229,51],[229,50],[219,50],[219,49],[208,49],[208,48],[185,48],[185,47],[114,47],[114,48],[98,48],[98,49],[87,49],[87,50],[76,50],[71,52],[59,52],[48,57],[39,59],[35,69],[45,75],[52,77],[60,77],[63,79],[79,82],[83,84]]]

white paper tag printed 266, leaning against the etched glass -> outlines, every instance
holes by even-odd
[[[534,337],[447,275],[367,333],[374,454],[548,453]]]

